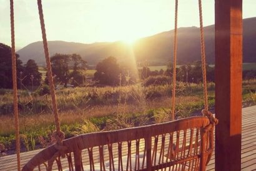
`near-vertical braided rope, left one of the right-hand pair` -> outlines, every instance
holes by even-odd
[[[177,59],[177,21],[178,21],[178,0],[175,0],[175,29],[174,29],[174,63],[172,74],[172,114],[171,119],[175,117],[175,91],[176,91],[176,59]]]

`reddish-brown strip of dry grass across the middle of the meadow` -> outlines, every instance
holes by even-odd
[[[159,108],[170,108],[171,98],[160,98],[155,100],[150,100],[145,103],[145,106],[130,104],[116,104],[116,105],[102,105],[94,106],[88,109],[73,109],[69,111],[62,111],[60,113],[60,119],[62,124],[74,124],[81,122],[83,119],[98,118],[104,116],[111,116],[113,114],[121,113],[147,113],[151,109]],[[180,96],[177,98],[177,105],[182,105],[184,103],[202,103],[202,98],[200,96]],[[189,114],[187,114],[189,115]],[[15,124],[12,115],[0,115],[0,135],[14,134]],[[19,116],[19,126],[21,132],[26,132],[28,130],[36,129],[36,127],[47,127],[54,125],[54,118],[51,113],[43,114],[30,114]]]

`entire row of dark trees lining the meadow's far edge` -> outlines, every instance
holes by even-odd
[[[39,86],[48,84],[47,73],[42,80],[42,73],[34,60],[28,60],[22,65],[19,55],[16,54],[17,85],[19,88]],[[119,65],[115,57],[108,57],[99,62],[94,74],[92,86],[124,86],[144,82],[144,85],[152,83],[172,83],[172,63],[167,64],[167,69],[150,70],[145,65],[137,68],[135,64]],[[84,86],[86,81],[86,70],[89,68],[87,62],[77,54],[56,53],[51,57],[52,75],[55,85]],[[207,81],[214,82],[214,67],[206,66]],[[11,48],[0,44],[0,88],[12,88]],[[256,70],[243,72],[244,80],[256,78]],[[202,82],[202,65],[200,61],[179,65],[176,68],[176,80],[186,83]]]

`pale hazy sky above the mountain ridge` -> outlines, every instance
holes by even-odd
[[[42,0],[48,40],[131,41],[174,29],[174,0]],[[203,0],[204,25],[214,24],[214,0]],[[0,42],[10,45],[9,0],[0,0]],[[36,0],[14,0],[16,47],[42,40]],[[244,18],[256,17],[244,0]],[[179,0],[179,27],[199,25],[197,0]],[[256,29],[256,28],[255,28]]]

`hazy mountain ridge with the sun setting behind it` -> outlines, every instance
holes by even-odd
[[[244,19],[244,62],[256,62],[256,17]],[[205,53],[207,63],[214,63],[214,25],[204,27]],[[99,42],[82,44],[64,41],[49,41],[50,55],[54,53],[78,53],[89,64],[96,65],[102,59],[114,56],[119,62],[136,58],[138,62],[147,60],[150,65],[166,65],[171,60],[174,30],[162,32],[137,40],[132,48],[124,42]],[[18,50],[20,59],[25,63],[30,58],[44,65],[42,42],[34,42]],[[200,30],[198,27],[178,29],[177,62],[188,63],[200,60]]]

